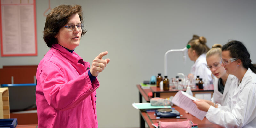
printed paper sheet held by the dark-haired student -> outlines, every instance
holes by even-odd
[[[188,95],[186,92],[179,91],[175,94],[172,99],[172,103],[179,106],[180,108],[188,111],[196,118],[203,120],[207,112],[201,111],[196,107],[196,104],[192,100],[197,100],[195,97]]]

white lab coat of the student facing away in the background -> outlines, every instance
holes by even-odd
[[[207,68],[206,55],[200,55],[195,63],[192,65],[190,73],[193,74],[194,79],[196,76],[203,78],[204,83],[207,81],[212,84],[212,72]]]

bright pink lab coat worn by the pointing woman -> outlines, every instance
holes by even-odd
[[[97,79],[88,76],[88,62],[54,44],[40,61],[36,105],[39,128],[97,128]]]

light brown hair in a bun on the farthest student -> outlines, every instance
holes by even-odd
[[[193,36],[193,38],[194,38],[194,36]],[[193,50],[196,51],[196,54],[197,54],[198,56],[200,56],[200,55],[202,55],[202,54],[208,52],[209,49],[210,49],[210,48],[206,45],[206,42],[207,42],[206,38],[203,37],[203,36],[201,36],[201,37],[199,37],[199,39],[195,39],[195,40],[189,41],[188,44],[191,46],[191,48],[192,48]]]

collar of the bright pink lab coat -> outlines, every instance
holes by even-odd
[[[72,62],[72,63],[75,63],[75,64],[77,64],[78,61],[83,62],[83,59],[79,55],[77,55],[76,52],[71,53],[67,49],[62,47],[60,44],[53,44],[51,50],[56,52],[57,54],[62,55],[69,62]]]

